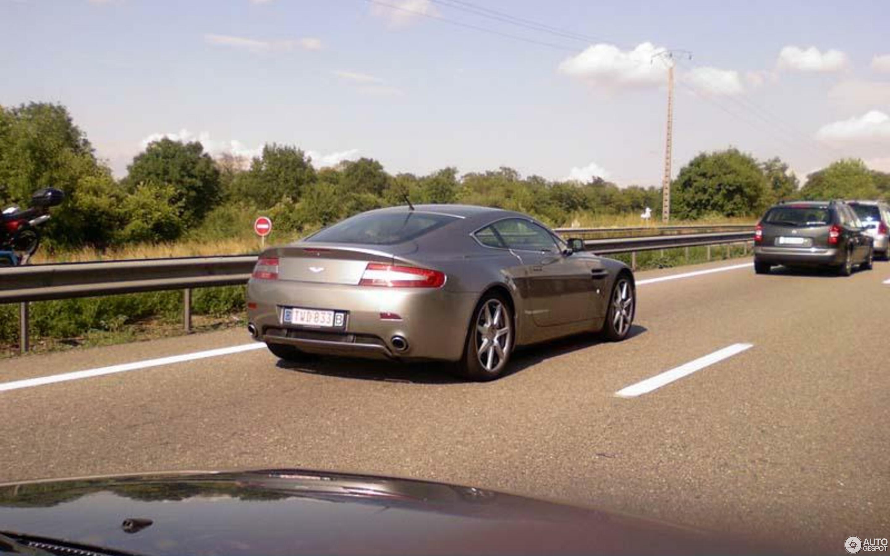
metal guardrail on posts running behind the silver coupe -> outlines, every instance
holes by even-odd
[[[748,230],[587,239],[584,244],[587,250],[595,254],[630,253],[631,266],[635,268],[637,252],[657,249],[708,246],[709,260],[710,246],[723,244],[728,246],[733,243],[747,246],[753,241],[753,231],[750,227],[745,228]],[[565,233],[563,230],[556,231]],[[255,262],[256,255],[234,255],[140,261],[68,262],[4,268],[0,269],[0,303],[20,303],[20,351],[22,352],[28,351],[29,302],[182,290],[182,314],[185,329],[189,331],[191,289],[246,284]]]

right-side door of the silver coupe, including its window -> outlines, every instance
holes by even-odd
[[[563,252],[550,231],[536,222],[508,218],[492,228],[522,260],[537,326],[594,318],[595,280],[587,260]]]

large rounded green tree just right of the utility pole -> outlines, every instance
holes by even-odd
[[[770,202],[766,177],[754,157],[738,149],[701,153],[685,165],[673,184],[677,218],[708,214],[751,216]]]

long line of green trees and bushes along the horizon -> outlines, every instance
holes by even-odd
[[[246,160],[211,157],[197,141],[160,139],[115,179],[64,106],[0,107],[0,205],[27,205],[32,191],[48,186],[68,195],[46,230],[59,248],[245,236],[261,213],[275,230],[299,234],[372,208],[403,205],[406,197],[414,204],[498,206],[554,226],[570,225],[580,214],[639,213],[646,206],[657,219],[661,210],[659,187],[619,188],[600,178],[552,181],[508,167],[392,174],[367,157],[315,168],[303,150],[279,144],[266,144],[260,156]],[[783,198],[888,197],[890,174],[840,160],[799,187],[779,158],[760,162],[726,149],[693,158],[672,191],[676,218],[756,217]]]

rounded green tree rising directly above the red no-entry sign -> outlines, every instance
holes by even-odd
[[[251,161],[249,171],[235,177],[228,197],[270,207],[285,197],[296,202],[313,181],[315,169],[301,149],[271,143],[264,145],[263,154]]]

